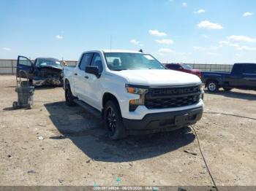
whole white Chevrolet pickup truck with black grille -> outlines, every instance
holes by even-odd
[[[64,67],[64,90],[67,105],[102,117],[111,139],[175,130],[203,114],[199,77],[143,52],[83,52],[75,68]]]

